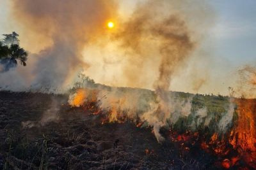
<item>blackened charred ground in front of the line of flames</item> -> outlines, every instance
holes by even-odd
[[[68,96],[0,92],[0,169],[238,169],[247,166],[231,145],[213,142],[209,129],[161,129],[127,118],[102,122],[97,103],[70,107]],[[95,106],[94,106],[94,105]],[[203,142],[204,139],[204,142]],[[207,141],[207,139],[211,141]],[[220,147],[217,147],[219,146]],[[234,158],[225,159],[227,155]],[[231,157],[231,156],[230,156]]]

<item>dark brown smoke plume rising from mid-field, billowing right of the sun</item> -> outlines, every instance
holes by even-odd
[[[121,39],[122,47],[137,54],[142,58],[142,62],[143,58],[147,59],[147,48],[150,47],[147,41],[151,41],[158,52],[159,74],[154,82],[157,106],[145,113],[145,117],[157,115],[154,120],[148,122],[154,126],[156,136],[159,136],[159,128],[165,124],[166,119],[173,112],[170,110],[172,103],[170,103],[168,90],[172,89],[170,82],[175,69],[191,55],[196,44],[182,13],[175,11],[161,13],[166,4],[175,3],[148,1],[138,6],[131,20],[124,24],[124,30],[116,36],[116,39]],[[157,138],[157,140],[161,141],[162,138]]]

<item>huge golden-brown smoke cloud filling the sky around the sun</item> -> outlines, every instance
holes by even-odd
[[[72,83],[77,71],[84,69],[95,81],[112,86],[168,87],[160,81],[177,76],[177,69],[188,62],[195,44],[200,45],[213,23],[211,8],[198,0],[145,0],[125,17],[113,1],[12,0],[11,17],[20,42],[31,52],[26,69],[20,73],[17,68],[19,71],[12,76],[24,79],[20,85],[25,87],[62,89]],[[106,29],[108,20],[115,22],[112,31]],[[170,52],[172,57],[164,57]],[[196,67],[195,63],[189,62],[189,67]],[[182,69],[182,75],[188,72],[188,67]],[[9,73],[2,74],[0,79],[8,76]],[[5,85],[13,87],[15,83],[1,82],[2,87]]]

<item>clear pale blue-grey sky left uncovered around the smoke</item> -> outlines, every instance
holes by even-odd
[[[15,22],[8,20],[8,1],[0,0],[0,34],[19,32]],[[121,1],[121,13],[129,15],[136,2]],[[215,23],[204,40],[203,48],[211,55],[212,63],[208,67],[212,79],[199,92],[227,94],[227,88],[236,81],[239,67],[244,64],[256,66],[256,1],[212,0],[209,3],[215,11]],[[179,89],[179,82],[173,84],[173,90],[186,91]]]

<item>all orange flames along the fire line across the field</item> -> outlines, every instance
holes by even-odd
[[[136,110],[133,106],[127,105],[128,100],[123,96],[99,97],[97,90],[77,89],[68,102],[71,106],[82,106],[93,115],[104,113],[102,124],[105,124],[106,122],[123,123],[129,115],[134,115],[131,113],[135,113]],[[214,132],[209,135],[192,131],[179,134],[170,129],[171,141],[179,144],[182,154],[189,152],[193,146],[196,146],[195,143],[199,143],[198,146],[205,152],[217,155],[218,165],[226,169],[241,166],[241,162],[246,162],[246,166],[256,169],[256,100],[235,99],[234,102],[238,117],[234,119],[234,125],[227,134]],[[142,127],[144,123],[145,121],[138,120],[135,125]],[[146,149],[145,153],[150,155],[152,151]]]

